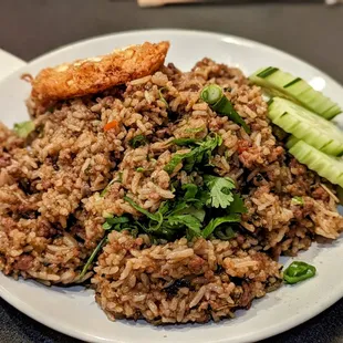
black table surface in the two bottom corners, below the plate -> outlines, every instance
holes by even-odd
[[[20,313],[2,299],[0,299],[0,316],[3,321],[2,328],[8,328],[1,332],[2,342],[81,343]],[[333,332],[336,336],[332,334]],[[340,343],[342,336],[343,299],[306,323],[260,343]]]

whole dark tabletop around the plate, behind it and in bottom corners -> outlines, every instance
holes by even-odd
[[[210,30],[288,51],[343,83],[343,6],[329,8],[315,0],[232,2],[236,4],[139,9],[134,0],[0,0],[0,48],[30,61],[60,45],[112,32]],[[0,299],[0,342],[77,341],[37,323]],[[272,342],[343,342],[343,300],[309,322],[263,341]]]

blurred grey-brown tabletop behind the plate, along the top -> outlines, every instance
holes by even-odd
[[[285,50],[343,82],[343,6],[324,0],[205,0],[148,8],[137,0],[0,1],[0,46],[27,61],[76,40],[148,28],[249,38]]]

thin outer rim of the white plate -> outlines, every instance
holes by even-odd
[[[335,79],[333,79],[331,75],[329,75],[326,72],[321,71],[319,67],[314,66],[313,64],[306,62],[305,60],[302,60],[301,58],[298,58],[297,55],[290,54],[281,49],[273,48],[272,45],[264,44],[262,42],[233,35],[233,34],[227,34],[222,32],[215,32],[215,31],[206,31],[206,30],[188,30],[188,29],[173,29],[173,28],[155,28],[155,29],[145,29],[145,30],[127,30],[127,31],[119,31],[119,32],[113,32],[113,33],[107,33],[107,34],[102,34],[102,35],[96,35],[92,38],[86,38],[82,40],[77,40],[75,42],[69,43],[61,45],[56,49],[53,49],[42,55],[37,56],[35,59],[25,62],[24,65],[21,67],[14,70],[11,72],[9,75],[2,77],[0,80],[0,84],[6,83],[7,79],[11,77],[15,73],[20,73],[28,66],[34,66],[35,64],[39,64],[41,61],[43,61],[46,58],[50,58],[54,55],[55,53],[69,51],[72,49],[77,49],[79,46],[86,45],[90,42],[95,42],[95,41],[103,41],[107,40],[113,37],[125,37],[125,35],[141,35],[141,34],[148,34],[148,33],[166,33],[166,34],[187,34],[187,35],[207,35],[212,38],[214,40],[220,40],[225,42],[229,42],[231,44],[236,45],[243,45],[243,46],[249,46],[249,48],[257,48],[257,49],[263,49],[264,51],[269,51],[272,54],[278,54],[278,55],[283,55],[287,56],[293,61],[301,62],[305,64],[306,66],[311,67],[312,70],[320,72],[323,76],[326,77],[328,81],[330,81],[334,86],[340,87],[343,91],[343,85],[341,85]],[[15,56],[17,58],[17,56]],[[18,59],[18,58],[17,58]],[[4,274],[1,274],[1,277],[8,278]],[[27,304],[23,302],[20,297],[13,295],[10,291],[8,291],[6,288],[3,288],[0,284],[0,297],[7,301],[9,304],[14,306],[18,311],[24,313],[29,318],[33,319],[34,321],[52,329],[58,332],[61,332],[65,335],[69,335],[71,337],[75,337],[79,340],[84,340],[86,342],[94,342],[94,339],[96,339],[97,342],[108,342],[107,339],[103,339],[101,336],[95,336],[95,335],[90,335],[87,333],[81,332],[75,328],[72,328],[67,324],[62,324],[60,325],[59,323],[55,323],[53,319],[50,319],[50,316],[44,316],[44,314],[41,311],[37,311],[34,306]],[[282,325],[280,324],[273,324],[269,325],[267,329],[259,331],[257,334],[252,337],[248,336],[249,341],[245,342],[256,342],[256,340],[263,340],[268,337],[272,337],[277,334],[283,333],[290,329],[293,329],[310,319],[316,316],[318,314],[322,313],[325,311],[328,308],[333,305],[335,302],[340,301],[343,298],[343,289],[340,292],[335,292],[334,295],[331,295],[328,300],[324,302],[319,302],[313,304],[313,310],[312,311],[306,311],[304,313],[298,313],[294,315],[292,319],[289,319],[285,323]],[[243,337],[241,337],[243,339]],[[118,341],[117,339],[114,339],[115,343],[127,343],[126,341]],[[225,343],[227,342],[227,339],[219,339],[215,341],[210,341],[211,343]]]

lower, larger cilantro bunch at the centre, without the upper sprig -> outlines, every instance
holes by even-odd
[[[185,184],[175,189],[175,199],[164,201],[154,214],[136,204],[127,201],[137,216],[107,218],[105,230],[134,230],[148,233],[153,241],[173,240],[186,236],[217,237],[230,239],[246,211],[243,201],[235,193],[235,183],[229,177],[204,175],[204,185]],[[129,219],[131,218],[131,219]]]

